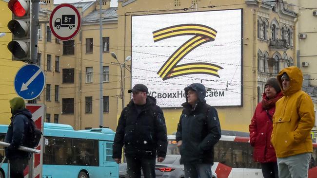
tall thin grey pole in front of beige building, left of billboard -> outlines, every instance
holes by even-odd
[[[99,0],[99,15],[100,15],[100,20],[99,20],[99,35],[100,35],[100,50],[99,50],[99,57],[100,57],[100,103],[99,103],[99,127],[103,125],[103,92],[102,92],[102,76],[103,76],[103,71],[102,71],[102,17],[101,17],[101,5],[102,0]]]

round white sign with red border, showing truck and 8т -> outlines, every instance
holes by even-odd
[[[72,39],[77,35],[81,25],[78,9],[67,3],[56,6],[50,16],[50,29],[53,35],[62,41]]]

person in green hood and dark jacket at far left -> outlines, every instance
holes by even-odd
[[[24,178],[23,170],[28,165],[30,153],[18,150],[19,146],[26,145],[30,134],[31,112],[25,108],[24,100],[20,97],[10,100],[11,123],[5,135],[4,142],[10,143],[5,148],[5,156],[10,161],[10,177]]]

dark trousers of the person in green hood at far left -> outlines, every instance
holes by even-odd
[[[29,164],[28,158],[17,158],[9,160],[10,162],[10,177],[11,178],[24,178],[23,171]]]

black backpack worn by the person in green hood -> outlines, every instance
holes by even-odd
[[[23,114],[23,113],[17,113],[15,116],[17,116],[18,114]],[[36,127],[32,118],[28,118],[28,120],[30,122],[29,123],[29,130],[26,134],[27,138],[26,138],[26,142],[24,142],[23,146],[26,146],[29,148],[35,148],[40,143],[40,139],[42,137],[42,132],[40,131],[40,129],[38,129]]]

